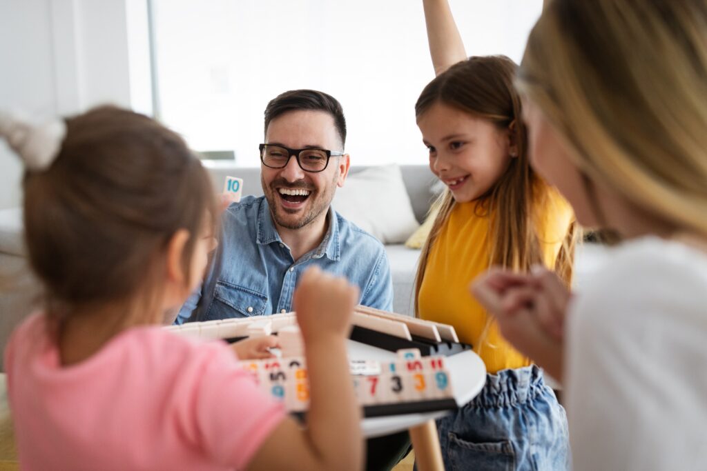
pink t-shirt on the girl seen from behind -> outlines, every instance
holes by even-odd
[[[5,365],[26,470],[242,469],[285,415],[225,344],[158,327],[62,366],[45,316],[34,315]]]

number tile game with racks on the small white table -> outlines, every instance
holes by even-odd
[[[276,358],[245,360],[243,366],[288,411],[303,415],[308,409],[304,345],[294,313],[166,328],[227,342],[277,335]],[[465,365],[469,371],[464,371]],[[481,390],[486,373],[481,359],[470,345],[459,342],[452,326],[364,306],[357,306],[352,318],[349,371],[364,417],[453,410]]]

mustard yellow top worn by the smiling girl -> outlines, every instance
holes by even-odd
[[[469,293],[469,284],[489,268],[489,217],[476,215],[475,205],[473,201],[455,205],[435,240],[420,286],[419,311],[423,319],[454,326],[460,340],[474,345],[486,370],[494,374],[531,362],[501,337],[494,321],[479,345],[487,314]],[[545,208],[538,222],[541,248],[544,262],[553,267],[574,215],[557,193]]]

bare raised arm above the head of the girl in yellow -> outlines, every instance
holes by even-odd
[[[435,75],[467,59],[464,42],[454,23],[448,0],[423,0],[427,42]]]

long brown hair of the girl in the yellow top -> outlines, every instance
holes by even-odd
[[[443,102],[511,133],[518,146],[518,157],[510,159],[501,179],[477,199],[476,212],[479,217],[490,217],[489,264],[525,271],[534,263],[542,263],[538,222],[547,212],[555,190],[539,178],[528,162],[520,97],[513,88],[517,69],[506,56],[469,57],[448,68],[424,88],[415,105],[415,114],[419,118],[432,105]],[[446,190],[434,205],[439,213],[422,248],[415,278],[416,315],[419,315],[419,293],[428,256],[455,204],[452,193]],[[555,266],[568,285],[572,278],[574,241],[573,223]]]

